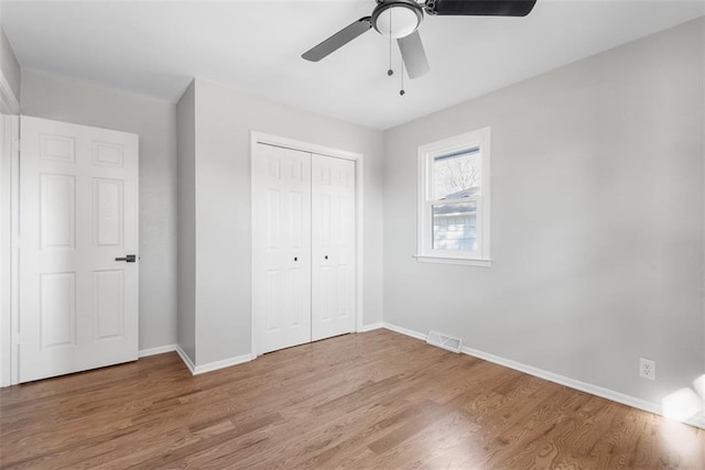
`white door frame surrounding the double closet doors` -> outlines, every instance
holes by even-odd
[[[335,159],[350,160],[355,162],[355,330],[356,332],[362,331],[362,260],[364,260],[364,211],[365,211],[365,198],[364,198],[364,175],[365,175],[365,155],[361,153],[349,152],[339,149],[333,149],[324,145],[318,145],[310,142],[296,141],[278,135],[267,134],[263,132],[250,131],[250,209],[252,208],[252,201],[254,200],[254,165],[252,165],[252,159],[257,154],[257,144],[267,144],[281,146],[284,149],[299,150],[307,153],[315,153],[324,156],[332,156]],[[254,211],[251,210],[250,215],[250,234],[254,231]],[[250,240],[250,249],[252,248],[252,240]],[[251,252],[251,250],[250,250]],[[252,280],[252,286],[250,291],[251,298],[254,298],[254,263],[250,258],[250,278]],[[257,330],[254,328],[254,309],[250,308],[250,341],[251,353],[253,357],[261,356],[262,353]]]

